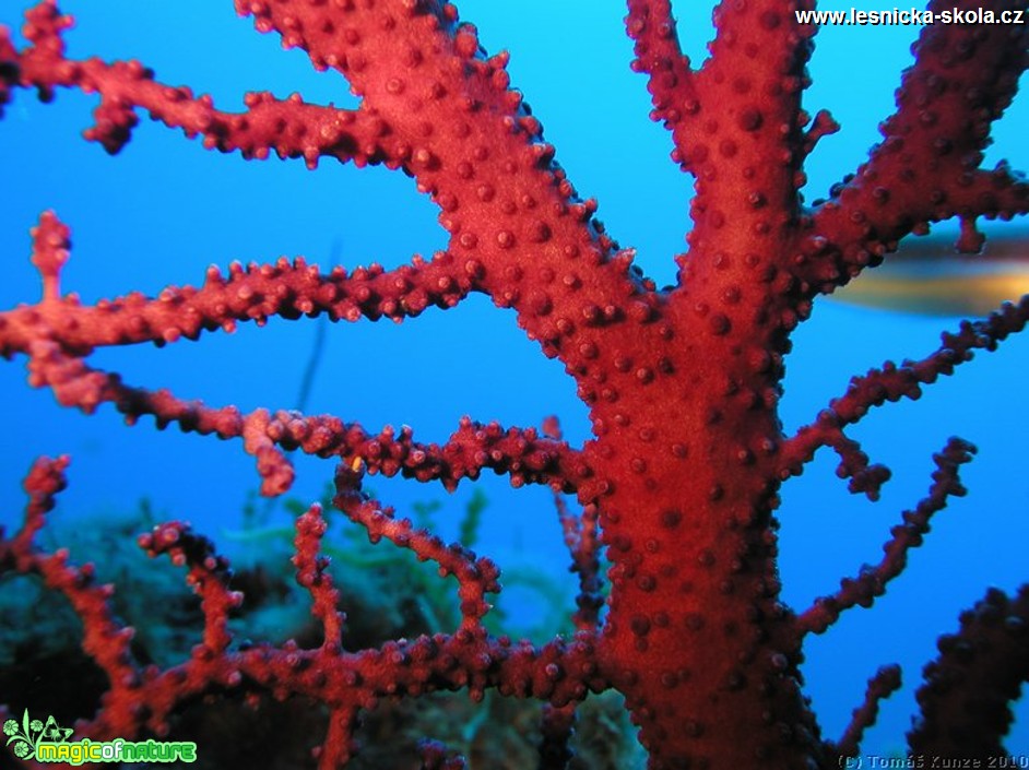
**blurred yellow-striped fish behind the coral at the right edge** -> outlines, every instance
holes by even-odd
[[[1029,294],[1029,233],[986,238],[982,253],[962,254],[955,237],[901,244],[883,264],[831,296],[840,303],[922,316],[985,316]]]

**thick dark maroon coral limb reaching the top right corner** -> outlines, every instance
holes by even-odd
[[[931,12],[977,8],[971,0],[929,4]],[[1004,0],[991,10],[1025,12],[1026,3]],[[1024,179],[980,170],[990,126],[1010,104],[1026,67],[1027,36],[1025,24],[924,27],[897,91],[897,111],[882,126],[883,143],[815,213],[812,238],[820,256],[805,260],[799,276],[831,292],[929,222],[1029,211]]]

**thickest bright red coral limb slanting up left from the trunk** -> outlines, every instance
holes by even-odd
[[[339,20],[329,5],[238,0],[237,8],[347,78],[441,209],[450,251],[482,265],[482,289],[518,311],[546,355],[581,378],[596,370],[600,327],[627,320],[625,299],[653,286],[630,271],[628,252],[612,259],[616,245],[592,220],[595,202],[576,196],[540,121],[509,87],[507,56],[486,59],[475,27],[459,24],[449,3],[355,4],[344,14],[350,35],[333,34]],[[628,320],[652,319],[655,303],[640,299]]]

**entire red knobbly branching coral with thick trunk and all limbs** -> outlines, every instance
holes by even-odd
[[[882,125],[883,141],[828,200],[808,208],[799,193],[804,161],[835,123],[826,112],[812,120],[801,108],[816,29],[800,24],[794,11],[807,3],[720,4],[711,56],[697,68],[679,48],[670,3],[629,0],[632,66],[647,75],[653,118],[671,131],[673,158],[696,186],[688,251],[676,257],[675,285],[659,291],[634,266],[631,251],[593,220],[595,203],[577,197],[540,121],[509,86],[506,56],[487,57],[453,5],[236,5],[259,31],[307,51],[317,69],[342,74],[360,106],[336,109],[262,93],[248,95],[243,112],[220,111],[208,97],[158,82],[137,61],[66,58],[62,33],[70,21],[52,2],[28,13],[25,48],[0,34],[0,97],[29,87],[44,98],[59,87],[97,94],[86,138],[110,153],[129,141],[138,110],[145,110],[208,147],[245,158],[275,152],[308,166],[331,158],[402,169],[439,208],[448,249],[391,271],[372,265],[324,274],[299,260],[234,264],[227,272],[212,269],[199,288],[84,306],[59,285],[69,229],[45,213],[32,257],[43,298],[0,315],[0,350],[27,358],[32,384],[52,389],[69,406],[91,412],[109,403],[130,422],[153,415],[161,426],[241,439],[269,495],[293,477],[283,450],[338,459],[335,505],[374,538],[411,548],[456,576],[463,619],[448,633],[343,652],[345,625],[318,556],[324,522],[315,507],[297,521],[295,561],[323,624],[322,645],[240,649],[225,625],[240,597],[229,589],[224,560],[203,537],[172,522],[140,544],[188,566],[206,627],[189,661],[144,672],[129,654],[130,632],[106,609],[106,589],[91,584],[88,570],[33,542],[63,484],[64,460],[40,460],[26,483],[25,525],[0,546],[0,568],[42,576],[84,620],[84,649],[108,675],[109,690],[80,728],[97,737],[159,734],[177,706],[205,692],[307,696],[331,712],[319,749],[320,767],[328,769],[359,750],[354,726],[380,698],[463,688],[478,697],[497,688],[548,704],[544,762],[561,767],[567,753],[559,747],[576,703],[615,688],[640,727],[653,770],[837,767],[840,756],[856,751],[878,700],[898,686],[898,672],[875,675],[845,734],[828,741],[802,694],[803,641],[851,607],[870,605],[902,571],[932,514],[963,493],[958,470],[973,448],[959,439],[943,448],[929,495],[894,529],[883,560],[801,612],[779,599],[778,489],[827,447],[839,454],[851,488],[874,497],[888,471],[870,462],[848,436],[850,426],[886,401],[918,398],[974,351],[993,350],[1020,331],[1029,299],[945,334],[939,350],[920,360],[855,378],[792,436],[783,435],[777,413],[782,359],[813,300],[890,259],[900,238],[959,217],[959,246],[975,249],[978,217],[1006,220],[1029,209],[1020,176],[1005,165],[981,167],[991,123],[1026,66],[1027,27],[927,27],[896,111]],[[1025,9],[1018,0],[991,5]],[[593,437],[583,446],[569,446],[553,428],[471,419],[436,446],[419,443],[406,428],[372,434],[330,416],[241,414],[133,388],[87,363],[98,347],[196,340],[273,316],[401,320],[452,307],[473,292],[513,308],[525,334],[575,378],[592,423]],[[367,472],[450,488],[486,469],[513,484],[578,495],[582,516],[565,512],[582,576],[573,638],[534,647],[492,637],[481,620],[487,593],[498,589],[497,568],[412,529],[360,488]],[[612,565],[604,615],[598,612],[598,531]],[[998,745],[1010,720],[1006,703],[1026,677],[1027,614],[1025,595],[991,594],[942,642],[921,696],[924,722],[911,736],[919,750],[978,756]],[[987,649],[989,655],[980,652]],[[962,708],[962,699],[991,708]],[[423,762],[460,766],[435,743],[425,745]]]

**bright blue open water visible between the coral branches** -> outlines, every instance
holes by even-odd
[[[5,0],[0,24],[16,31],[29,4]],[[637,262],[659,285],[671,282],[672,258],[685,248],[691,179],[669,159],[666,131],[648,118],[646,79],[629,71],[624,5],[465,0],[459,8],[463,20],[476,24],[490,54],[511,51],[512,85],[525,94],[580,194],[600,202],[598,216],[612,237],[638,249]],[[139,58],[158,80],[210,93],[223,110],[240,109],[247,91],[280,97],[297,91],[310,102],[356,106],[339,74],[316,73],[301,51],[282,51],[277,36],[258,35],[227,0],[66,0],[61,9],[78,19],[66,35],[70,56]],[[710,9],[678,3],[676,10],[684,47],[699,64],[712,32]],[[853,171],[878,139],[876,127],[892,111],[892,91],[911,62],[909,46],[916,32],[825,27],[815,38],[814,85],[805,107],[811,114],[830,109],[842,130],[823,139],[807,162],[808,201],[826,196]],[[17,91],[0,120],[2,308],[39,298],[39,280],[28,261],[28,228],[45,209],[54,209],[72,228],[62,289],[85,303],[130,291],[154,295],[168,284],[196,285],[209,264],[224,269],[232,260],[303,254],[323,269],[369,262],[391,268],[446,246],[436,209],[402,173],[324,161],[314,173],[299,161],[244,162],[205,151],[146,117],[129,145],[110,158],[80,137],[94,104],[94,97],[62,91],[54,104],[40,105],[33,94]],[[996,123],[985,165],[1006,157],[1017,169],[1029,168],[1027,131],[1029,99],[1022,95]],[[1029,230],[1017,222],[985,223],[984,230],[1021,233],[1029,241]],[[934,228],[956,232],[955,223]],[[887,358],[922,357],[938,346],[941,331],[957,323],[816,301],[813,318],[794,334],[786,362],[785,430],[813,420],[844,392],[851,376]],[[401,325],[272,319],[265,328],[240,324],[232,335],[204,334],[199,342],[163,350],[103,350],[92,360],[121,372],[130,384],[166,387],[180,398],[249,411],[297,407],[312,359],[318,368],[303,399],[305,411],[331,413],[370,430],[406,424],[421,440],[443,441],[464,414],[520,426],[539,426],[553,414],[573,446],[589,435],[586,406],[561,366],[523,336],[513,312],[482,296],[447,312],[429,309]],[[21,479],[39,454],[72,457],[69,488],[51,517],[66,534],[132,516],[145,499],[157,519],[187,519],[232,555],[241,547],[232,533],[244,526],[244,509],[272,510],[252,501],[255,462],[239,442],[182,435],[177,428],[157,431],[149,418],[128,428],[110,406],[83,416],[59,407],[49,391],[29,389],[25,379],[23,360],[0,366],[4,525],[20,520]],[[886,596],[871,611],[845,613],[826,635],[808,640],[806,691],[825,737],[840,735],[867,677],[879,665],[898,662],[906,686],[883,704],[863,749],[899,749],[915,711],[921,667],[934,655],[937,636],[955,630],[958,613],[981,599],[987,585],[1010,592],[1029,580],[1027,379],[1029,334],[1022,334],[926,387],[919,402],[875,410],[853,436],[874,462],[894,471],[876,504],[847,493],[826,450],[783,487],[783,597],[800,611],[835,591],[839,579],[856,573],[863,562],[878,561],[889,528],[925,494],[932,453],[947,437],[959,435],[980,449],[961,472],[969,495],[953,499],[935,517],[925,544],[912,552]],[[294,461],[298,474],[291,496],[317,499],[332,478],[332,462]],[[501,570],[548,574],[567,595],[569,612],[573,608],[575,582],[548,489],[511,489],[492,476],[463,482],[453,496],[401,479],[374,477],[367,485],[402,514],[438,506],[436,529],[447,538],[458,537],[473,490],[482,489],[487,506],[475,549]],[[274,516],[286,514],[268,513]],[[268,523],[275,522],[287,519]],[[548,600],[520,582],[511,585],[505,609],[516,627],[539,625],[552,616]],[[16,708],[19,698],[2,692],[0,700]],[[1019,707],[1007,747],[1029,755],[1026,706]]]

